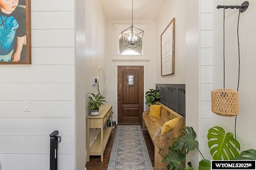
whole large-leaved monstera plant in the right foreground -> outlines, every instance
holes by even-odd
[[[170,152],[164,156],[162,162],[170,162],[166,168],[169,170],[194,170],[191,162],[188,162],[188,166],[184,168],[182,166],[182,161],[185,160],[186,154],[190,150],[198,149],[198,141],[196,141],[196,132],[192,127],[185,127],[180,129],[184,135],[180,135],[178,138],[173,139],[172,146],[169,147]],[[241,152],[240,143],[234,138],[233,133],[226,133],[222,127],[215,126],[209,129],[208,131],[208,147],[210,149],[210,154],[212,155],[213,160],[256,160],[256,150],[249,149]],[[210,170],[211,162],[208,159],[205,159],[202,153],[202,160],[199,162],[199,170]]]

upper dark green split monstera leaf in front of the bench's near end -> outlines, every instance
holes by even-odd
[[[175,140],[172,143],[173,149],[181,149],[182,152],[187,150],[186,154],[190,150],[194,150],[195,147],[198,148],[198,141],[196,141],[196,132],[194,131],[193,127],[185,127],[185,129],[180,129],[181,132],[183,132],[185,135],[180,135],[178,138],[174,138]]]

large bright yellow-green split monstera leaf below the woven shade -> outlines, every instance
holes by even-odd
[[[208,131],[208,147],[213,160],[234,160],[240,150],[239,142],[234,139],[233,133],[227,133],[222,127],[215,126]]]

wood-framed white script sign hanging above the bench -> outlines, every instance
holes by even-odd
[[[175,18],[161,34],[161,76],[174,74]]]

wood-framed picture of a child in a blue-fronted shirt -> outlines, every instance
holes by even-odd
[[[0,64],[31,64],[30,0],[0,0]]]

